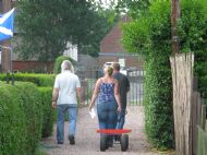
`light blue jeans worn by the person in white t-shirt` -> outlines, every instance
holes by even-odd
[[[66,111],[69,114],[69,120],[70,120],[69,134],[75,135],[77,105],[76,104],[58,105],[58,116],[57,116],[58,142],[64,142],[64,114]]]

